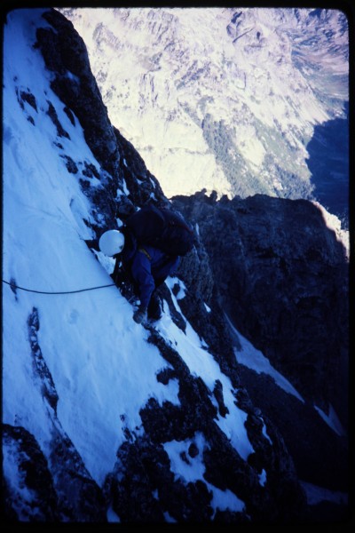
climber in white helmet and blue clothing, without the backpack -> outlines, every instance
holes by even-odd
[[[121,219],[132,213],[119,212]],[[127,227],[108,230],[101,235],[99,249],[105,255],[116,259],[112,277],[117,284],[130,282],[133,292],[138,296],[140,305],[133,314],[137,323],[146,319],[159,320],[162,316],[161,299],[157,289],[178,267],[179,257],[145,243],[137,246],[132,242],[132,235]]]

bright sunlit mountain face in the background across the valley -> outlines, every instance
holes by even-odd
[[[164,193],[315,199],[348,224],[346,13],[62,9]]]

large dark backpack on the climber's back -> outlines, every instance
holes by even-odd
[[[126,220],[125,232],[130,247],[149,244],[171,256],[185,256],[193,249],[193,229],[183,217],[175,212],[155,205],[144,205]],[[136,241],[136,243],[133,243]]]

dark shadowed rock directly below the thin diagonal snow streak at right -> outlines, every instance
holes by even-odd
[[[264,420],[277,426],[302,481],[329,490],[347,492],[349,446],[323,422],[309,404],[283,391],[270,376],[240,365],[241,383]]]

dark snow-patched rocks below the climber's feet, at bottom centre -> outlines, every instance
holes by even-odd
[[[166,383],[170,378],[178,380],[180,405],[164,402],[160,406],[152,398],[141,410],[145,435],[140,438],[127,434],[127,442],[117,452],[114,473],[106,480],[106,494],[114,511],[124,521],[138,523],[165,521],[167,513],[179,523],[208,522],[212,518],[224,523],[240,523],[250,521],[250,517],[251,521],[289,523],[305,517],[304,493],[298,485],[288,450],[272,425],[270,437],[275,446],[264,436],[261,412],[253,408],[247,391],[240,389],[236,393],[236,403],[248,413],[248,438],[256,450],[248,462],[241,458],[215,423],[217,410],[201,378],[193,378],[179,354],[154,328],[149,342],[159,347],[162,356],[174,368],[159,379]],[[220,385],[216,384],[215,396],[218,396],[217,390],[221,392]],[[221,402],[219,412],[224,416]],[[240,497],[246,504],[245,511],[219,511],[213,516],[212,493],[204,481],[184,483],[175,479],[164,443],[186,442],[196,433],[203,435],[204,446],[199,449],[193,442],[186,445],[181,452],[182,460],[190,465],[192,458],[201,454],[206,467],[204,479]],[[263,468],[268,472],[265,488],[258,479]],[[159,499],[152,497],[154,492]]]

